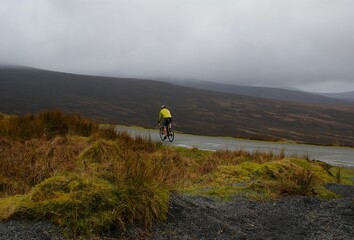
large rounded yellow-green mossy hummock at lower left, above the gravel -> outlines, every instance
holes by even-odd
[[[124,211],[122,206],[126,200],[124,193],[110,183],[87,175],[49,178],[27,197],[21,206],[22,214],[30,218],[49,217],[54,223],[70,228],[75,235],[98,233],[111,226],[94,221],[97,214],[106,213],[106,219],[117,219]]]

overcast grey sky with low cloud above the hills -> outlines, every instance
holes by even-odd
[[[353,0],[1,0],[0,63],[354,90]]]

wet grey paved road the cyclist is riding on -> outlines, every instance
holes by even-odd
[[[158,130],[155,129],[143,129],[125,126],[118,126],[117,129],[127,131],[133,136],[150,136],[153,140],[161,141],[158,136]],[[299,156],[307,155],[310,157],[310,159],[321,160],[332,165],[354,167],[354,148],[272,143],[228,137],[206,137],[180,133],[176,133],[175,140],[172,143],[165,141],[163,144],[187,148],[197,147],[203,150],[244,149],[248,151],[263,150],[273,152],[280,152],[284,150],[285,154],[288,156],[294,154]]]

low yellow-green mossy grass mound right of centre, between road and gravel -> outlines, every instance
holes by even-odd
[[[322,185],[335,182],[333,175],[320,162],[284,158],[259,163],[245,161],[219,165],[189,185],[189,192],[228,198],[244,195],[253,199],[273,199],[285,195],[335,196]]]

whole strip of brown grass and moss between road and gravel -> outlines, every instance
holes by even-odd
[[[79,115],[0,115],[0,220],[50,219],[69,237],[147,228],[164,220],[172,193],[255,200],[340,197],[353,169],[284,153],[172,148]]]

